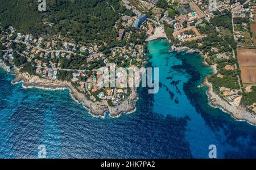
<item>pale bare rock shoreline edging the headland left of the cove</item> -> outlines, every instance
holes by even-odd
[[[106,100],[103,101],[92,101],[89,100],[85,94],[77,91],[71,84],[71,82],[60,81],[60,80],[49,80],[39,78],[39,76],[29,75],[27,73],[19,73],[16,71],[16,77],[12,83],[22,82],[25,88],[46,88],[51,90],[59,90],[60,88],[68,88],[71,92],[73,99],[83,104],[86,109],[89,110],[93,116],[105,116],[106,111],[109,112],[111,117],[117,117],[121,113],[130,113],[135,111],[135,101],[138,99],[136,89],[131,90],[130,96],[122,101],[115,107],[110,107]]]

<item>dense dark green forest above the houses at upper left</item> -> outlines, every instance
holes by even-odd
[[[0,0],[0,22],[7,28],[13,25],[18,32],[32,35],[55,36],[59,32],[75,42],[98,42],[115,40],[114,28],[118,13],[131,14],[120,6],[119,0],[48,0],[47,11],[38,11],[38,1]],[[115,11],[110,6],[112,5]],[[104,9],[104,10],[102,10]],[[13,15],[15,11],[18,15]],[[131,14],[132,15],[132,14]]]

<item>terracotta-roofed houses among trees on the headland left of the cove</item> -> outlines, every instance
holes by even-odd
[[[137,32],[144,30],[148,34],[154,32],[154,24],[146,22],[146,15],[139,14],[138,16],[122,16],[122,24],[124,28],[119,29],[119,35],[117,40],[129,40],[131,37],[131,31],[126,32],[125,28],[135,27]],[[143,24],[146,23],[146,24]],[[142,25],[143,24],[143,25]],[[9,28],[15,32],[13,27]],[[7,50],[4,52],[4,59],[8,59],[10,62],[15,57],[13,53],[19,54],[27,59],[27,62],[31,63],[35,67],[35,74],[46,79],[59,79],[60,71],[66,71],[64,76],[70,77],[70,82],[80,92],[83,92],[91,100],[108,100],[110,105],[118,105],[122,100],[126,99],[130,94],[130,89],[127,87],[127,79],[123,70],[117,71],[115,79],[117,80],[117,88],[103,87],[103,75],[97,71],[97,67],[125,67],[126,69],[142,66],[144,56],[144,45],[128,43],[123,47],[115,47],[110,49],[110,52],[106,54],[99,52],[100,46],[96,44],[90,44],[88,46],[76,45],[65,41],[49,41],[44,37],[35,38],[30,34],[23,35],[17,33],[13,40],[9,40],[8,37],[12,35],[6,34],[2,36],[3,45]],[[137,39],[138,40],[138,39]],[[7,42],[6,42],[7,41]],[[12,44],[16,44],[15,49],[11,49]],[[76,56],[80,56],[86,59],[86,65],[80,65],[89,67],[88,70],[80,70],[77,66],[76,69],[66,69],[63,67],[63,59],[66,61],[72,61]],[[100,59],[100,60],[99,60]],[[112,63],[117,63],[112,65]],[[14,67],[16,67],[14,65]]]

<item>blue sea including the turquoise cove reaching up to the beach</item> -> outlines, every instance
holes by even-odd
[[[68,90],[24,89],[0,70],[0,158],[256,158],[256,127],[208,105],[197,88],[212,70],[199,54],[168,53],[165,40],[148,43],[160,90],[139,88],[137,111],[93,117]]]

